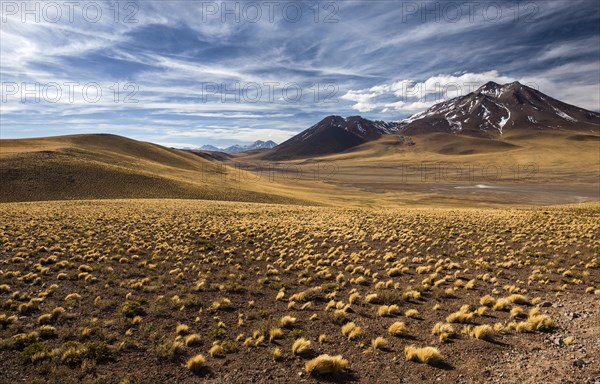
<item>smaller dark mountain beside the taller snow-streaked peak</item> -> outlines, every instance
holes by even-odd
[[[342,152],[382,135],[397,133],[399,128],[396,122],[372,121],[360,116],[327,116],[281,143],[264,158],[280,160]]]

